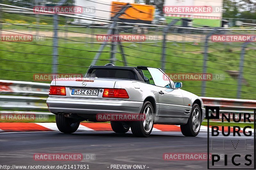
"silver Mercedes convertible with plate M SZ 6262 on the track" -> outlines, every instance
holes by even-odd
[[[91,66],[83,78],[53,79],[46,103],[63,133],[75,132],[82,121],[104,122],[99,114],[139,114],[139,121],[111,121],[113,131],[131,128],[136,137],[148,137],[154,124],[172,124],[180,125],[184,136],[195,137],[204,104],[181,87],[161,69],[106,64]]]

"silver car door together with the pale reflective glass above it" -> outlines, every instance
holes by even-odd
[[[156,68],[148,68],[159,95],[159,116],[182,117],[184,115],[184,101],[180,89],[174,89],[172,81],[164,72]]]

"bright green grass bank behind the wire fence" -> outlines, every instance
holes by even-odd
[[[72,39],[76,41],[91,40],[89,37],[72,37]],[[59,39],[59,46],[63,47],[59,48],[59,55],[63,56],[58,57],[58,72],[69,74],[84,74],[90,66],[92,59],[96,55],[95,51],[98,51],[100,45],[68,44],[66,42],[74,41],[65,41]],[[178,43],[178,46],[174,46],[172,42],[167,43],[167,63],[165,64],[165,72],[167,74],[202,72],[202,59],[204,49],[200,46],[204,44],[199,43],[199,46],[191,44],[192,43]],[[33,42],[1,42],[0,49],[6,51],[0,51],[0,79],[34,81],[34,74],[40,74],[41,72],[51,73],[52,47],[49,47],[51,45],[52,39],[50,38],[44,39],[43,41]],[[123,43],[123,45],[125,54],[130,55],[126,56],[129,66],[146,65],[150,67],[161,68],[160,61],[162,48],[159,47],[162,46],[161,43],[150,44],[156,45],[153,47],[148,46],[148,44],[135,44],[137,47],[130,46],[131,43]],[[233,45],[235,45],[235,43],[233,43]],[[236,45],[239,44],[236,43]],[[251,46],[252,45],[249,45],[248,47]],[[232,50],[233,53],[228,52],[230,50]],[[20,53],[13,53],[9,51]],[[107,52],[103,52],[100,55],[100,60],[97,62],[97,65],[104,65],[108,63],[106,60],[110,59],[110,47],[105,47],[103,51]],[[244,78],[246,82],[242,88],[242,98],[244,99],[256,99],[254,92],[255,88],[253,87],[253,80],[255,79],[254,63],[256,62],[256,58],[253,57],[254,54],[255,50],[247,48],[244,61]],[[207,96],[236,98],[237,79],[230,77],[226,70],[239,70],[240,48],[224,46],[220,43],[209,43],[208,56],[209,60],[207,62],[207,72],[213,74],[224,74],[226,78],[223,81],[207,81]],[[227,60],[227,58],[229,59]],[[116,54],[116,59],[116,65],[123,65],[122,57],[119,53]],[[200,96],[201,86],[202,81],[183,81],[182,89],[193,92]]]

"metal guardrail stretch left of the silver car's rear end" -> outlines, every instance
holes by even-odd
[[[0,80],[0,109],[48,111],[49,86],[47,83]]]

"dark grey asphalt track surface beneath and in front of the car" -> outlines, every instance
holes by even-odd
[[[236,145],[237,138],[229,136],[217,137],[217,139],[220,140],[217,144],[221,147],[222,139],[233,140]],[[247,139],[253,141],[253,137]],[[241,146],[244,146],[241,141]],[[253,153],[253,144],[249,145],[249,148]],[[96,159],[93,161],[35,161],[34,153],[94,153]],[[134,137],[131,132],[126,134],[114,132],[0,133],[0,165],[88,165],[92,170],[113,169],[111,165],[145,165],[145,169],[207,169],[205,160],[166,161],[163,159],[164,153],[207,153],[207,133],[200,132],[197,137],[184,137],[181,132],[152,132],[147,138]],[[234,150],[226,150],[225,153],[234,154]],[[228,160],[228,164],[230,162]],[[250,168],[253,168],[253,163]]]

